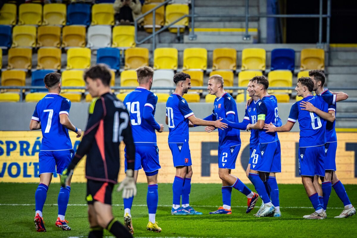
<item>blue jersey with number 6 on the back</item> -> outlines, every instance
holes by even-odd
[[[308,95],[302,100],[295,102],[290,110],[288,121],[295,123],[299,121],[300,140],[299,147],[322,146],[326,143],[326,120],[314,112],[301,110],[301,101],[308,101],[321,111],[327,112],[327,103],[322,97]]]

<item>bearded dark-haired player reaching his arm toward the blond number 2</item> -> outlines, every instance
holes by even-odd
[[[191,76],[183,72],[177,73],[174,76],[176,90],[167,99],[166,102],[166,125],[169,125],[169,147],[176,168],[176,176],[172,184],[173,202],[171,214],[186,215],[194,214],[201,215],[201,212],[195,211],[189,204],[189,196],[191,191],[192,177],[192,161],[190,147],[188,145],[188,122],[193,125],[214,126],[216,128],[227,128],[221,120],[205,121],[196,118],[187,101],[183,98],[183,94],[187,93],[191,88]],[[182,207],[180,206],[180,198],[182,195]]]

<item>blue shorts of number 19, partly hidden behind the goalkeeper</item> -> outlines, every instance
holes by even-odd
[[[125,152],[125,172],[127,168],[126,163],[126,148]],[[159,163],[159,148],[157,146],[135,146],[135,165],[134,170],[144,169],[145,173],[151,173],[161,168]],[[151,176],[146,174],[147,176]]]

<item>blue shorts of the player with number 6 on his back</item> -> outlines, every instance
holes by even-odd
[[[325,176],[325,146],[299,147],[299,174]]]

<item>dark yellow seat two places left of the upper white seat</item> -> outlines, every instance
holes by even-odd
[[[37,28],[37,47],[60,47],[61,27],[40,26]]]

